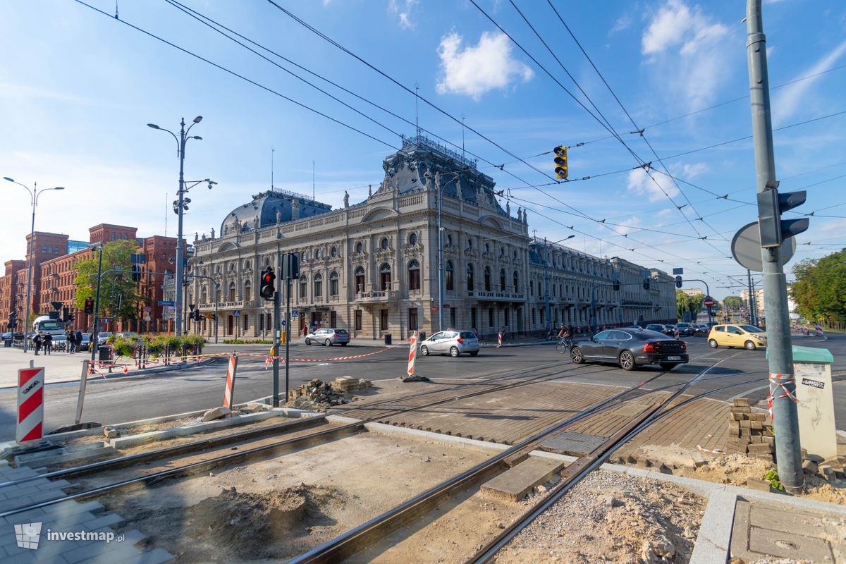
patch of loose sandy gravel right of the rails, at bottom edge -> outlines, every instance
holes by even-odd
[[[688,561],[705,502],[675,485],[594,472],[518,534],[497,562]]]

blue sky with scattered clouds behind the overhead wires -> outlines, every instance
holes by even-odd
[[[266,0],[179,2],[415,122],[413,95]],[[744,98],[749,91],[744,3],[621,1],[597,9],[597,3],[553,0],[625,111],[645,128],[640,138],[629,133],[634,125],[547,2],[514,0],[572,79],[512,3],[476,2],[591,107],[579,87],[584,90],[645,162],[656,161],[645,141],[658,156],[668,157],[751,133]],[[107,15],[73,0],[0,4],[0,176],[30,187],[37,182],[67,188],[44,194],[36,229],[85,239],[88,227],[114,222],[137,226],[146,236],[164,233],[167,217],[168,235],[175,234],[169,206],[179,172],[175,143],[146,123],[175,130],[180,117],[204,118],[192,130],[203,140],[188,145],[186,178],[212,178],[218,184],[190,193],[193,203],[185,216],[190,239],[211,227],[217,231],[228,211],[269,188],[272,155],[277,187],[310,194],[314,161],[318,200],[338,206],[345,189],[351,201],[363,200],[368,184],[382,179],[382,158],[393,152],[388,145],[399,146],[396,134],[414,134],[413,125],[264,52],[373,121],[344,107],[164,0],[118,0],[119,21],[113,17],[114,0],[89,3]],[[756,216],[755,208],[743,203],[755,201],[751,140],[666,159],[670,174],[690,184],[651,171],[653,180],[633,169],[638,161],[629,149],[470,0],[277,3],[401,85],[410,90],[418,85],[422,98],[459,120],[420,101],[421,128],[460,147],[464,115],[466,150],[481,157],[480,169],[498,188],[510,189],[514,213],[517,206],[528,207],[530,229],[539,235],[555,240],[575,233],[568,244],[576,249],[666,271],[684,267],[687,277],[705,278],[716,297],[729,293],[720,288],[726,275],[745,274],[726,257],[733,233]],[[846,4],[770,0],[764,4],[764,24],[771,87],[791,83],[772,90],[773,126],[846,111]],[[592,107],[591,112],[596,113]],[[678,118],[690,112],[695,113]],[[662,123],[672,118],[678,119]],[[794,261],[846,245],[846,205],[840,205],[846,204],[844,124],[846,114],[775,133],[781,189],[808,187],[808,201],[800,209],[816,211],[810,230],[799,237]],[[579,143],[585,145],[575,146]],[[554,176],[552,157],[537,155],[556,145],[573,147],[571,178],[595,178],[547,185]],[[488,163],[504,164],[504,170]],[[0,257],[22,258],[30,228],[28,196],[11,183],[0,187],[6,204]],[[729,200],[717,197],[722,194]]]

